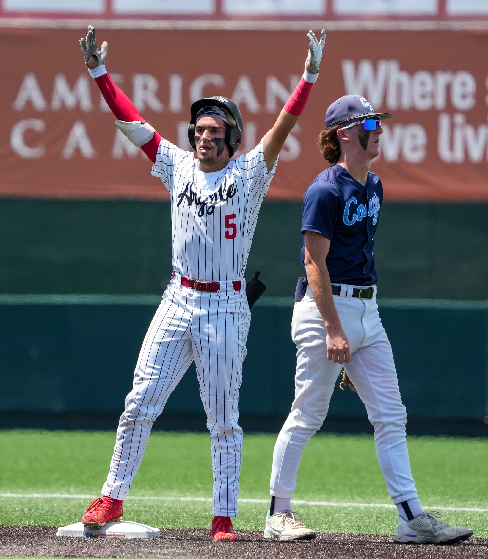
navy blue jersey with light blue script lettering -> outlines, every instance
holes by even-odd
[[[322,171],[305,191],[302,234],[314,231],[331,240],[326,264],[332,283],[377,282],[373,245],[382,201],[380,177],[368,173],[363,186],[341,165]],[[305,270],[304,253],[303,236]]]

